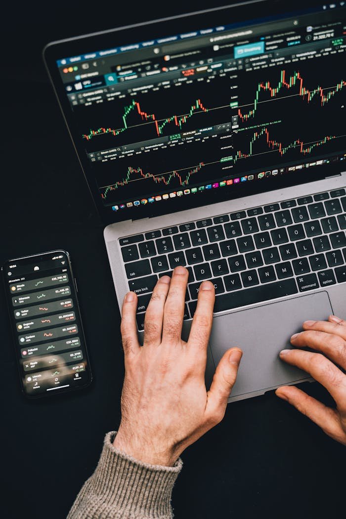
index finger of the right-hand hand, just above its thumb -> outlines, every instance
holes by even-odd
[[[282,350],[280,358],[310,373],[329,391],[338,405],[344,402],[346,406],[346,376],[324,355],[302,350]]]

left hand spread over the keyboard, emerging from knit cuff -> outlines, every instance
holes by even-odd
[[[186,343],[181,335],[187,279],[188,271],[176,267],[172,279],[158,280],[145,315],[143,347],[137,337],[136,294],[129,292],[122,306],[125,378],[113,444],[152,465],[173,466],[188,445],[223,419],[242,356],[239,348],[226,351],[206,391],[215,290],[210,281],[201,284]]]

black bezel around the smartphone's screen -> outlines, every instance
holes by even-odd
[[[16,320],[13,318],[13,315],[12,315],[13,307],[11,305],[11,294],[7,290],[8,289],[8,283],[7,283],[7,277],[5,275],[5,272],[8,270],[7,266],[11,265],[12,263],[16,263],[16,262],[19,263],[19,262],[21,262],[23,260],[27,261],[27,260],[31,260],[31,259],[33,260],[33,262],[36,259],[36,262],[40,263],[40,262],[49,260],[51,258],[52,254],[61,254],[61,253],[65,254],[66,258],[67,258],[68,275],[70,276],[70,279],[71,279],[71,283],[70,283],[71,284],[71,295],[74,298],[74,302],[75,302],[75,312],[78,313],[78,317],[79,317],[79,324],[80,324],[79,335],[81,336],[81,339],[82,339],[83,344],[84,344],[84,350],[85,350],[86,361],[87,361],[86,372],[88,374],[88,377],[87,377],[86,382],[84,384],[79,385],[79,386],[75,386],[75,387],[71,386],[71,387],[68,387],[68,388],[62,388],[61,391],[50,391],[50,392],[38,393],[38,394],[32,395],[32,394],[28,394],[25,391],[25,386],[23,384],[23,373],[22,373],[22,368],[21,368],[21,364],[20,364],[20,361],[22,359],[20,357],[20,353],[19,353],[18,345],[17,345]],[[19,373],[19,378],[20,378],[20,385],[21,385],[21,391],[24,394],[24,396],[26,398],[28,398],[28,399],[50,398],[50,397],[53,397],[53,395],[55,395],[55,397],[57,397],[57,395],[61,395],[61,394],[65,394],[65,393],[70,393],[72,391],[78,391],[78,390],[81,390],[81,389],[84,389],[84,388],[90,386],[93,377],[92,377],[92,371],[91,371],[91,367],[90,367],[90,359],[89,359],[88,348],[87,348],[87,344],[86,344],[86,340],[85,340],[85,333],[84,333],[83,323],[82,323],[81,314],[80,314],[79,302],[78,302],[78,297],[77,297],[77,289],[76,289],[76,284],[75,284],[75,277],[73,275],[70,254],[67,251],[64,251],[62,249],[58,249],[58,250],[43,252],[43,253],[40,253],[40,254],[33,254],[33,255],[30,255],[30,256],[22,256],[22,257],[19,257],[19,258],[13,258],[11,260],[7,260],[2,265],[1,271],[2,271],[3,283],[4,283],[4,287],[5,287],[5,293],[6,293],[6,301],[7,301],[7,308],[8,308],[8,313],[9,313],[9,320],[10,320],[10,323],[11,323],[13,346],[15,348],[15,354],[16,354],[16,360],[17,360],[17,368],[18,368],[18,373]]]

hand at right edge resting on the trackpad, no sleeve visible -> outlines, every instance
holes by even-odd
[[[294,386],[276,389],[276,394],[308,416],[334,440],[346,445],[346,321],[329,316],[328,321],[306,321],[304,332],[295,334],[293,346],[308,346],[321,353],[303,350],[283,350],[280,357],[288,364],[310,373],[331,394],[336,409],[325,406],[318,400]]]

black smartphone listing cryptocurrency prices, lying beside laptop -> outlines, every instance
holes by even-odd
[[[2,274],[25,396],[88,386],[92,375],[70,254],[9,260]]]

